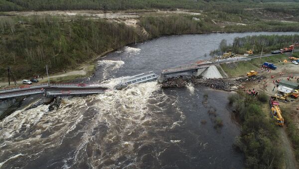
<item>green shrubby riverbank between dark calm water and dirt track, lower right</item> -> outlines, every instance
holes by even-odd
[[[282,169],[283,149],[276,126],[262,111],[264,99],[239,93],[231,95],[229,100],[241,120],[241,135],[235,146],[244,152],[246,166],[250,169]]]

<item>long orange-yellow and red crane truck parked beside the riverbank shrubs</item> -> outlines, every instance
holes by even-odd
[[[269,100],[270,106],[271,106],[271,117],[275,120],[275,124],[278,126],[284,126],[285,120],[282,116],[282,112],[279,108],[279,102],[277,98],[270,97]]]

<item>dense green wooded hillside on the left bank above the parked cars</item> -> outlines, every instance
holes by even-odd
[[[19,19],[19,18],[18,18]],[[11,66],[16,78],[76,68],[103,52],[143,40],[143,36],[124,23],[105,20],[76,21],[52,16],[0,19],[0,76]]]

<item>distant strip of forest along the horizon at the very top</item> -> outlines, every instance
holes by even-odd
[[[281,2],[274,4],[273,2]],[[288,4],[286,4],[288,2]],[[199,9],[238,10],[248,7],[294,6],[299,0],[0,0],[0,11],[11,10],[70,10],[70,9]]]

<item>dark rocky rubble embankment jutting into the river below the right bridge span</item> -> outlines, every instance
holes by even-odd
[[[240,86],[240,81],[236,81],[236,79],[203,79],[199,76],[177,76],[165,79],[161,87],[181,88],[185,87],[188,83],[192,83],[195,86],[206,86],[224,91],[232,91]]]

